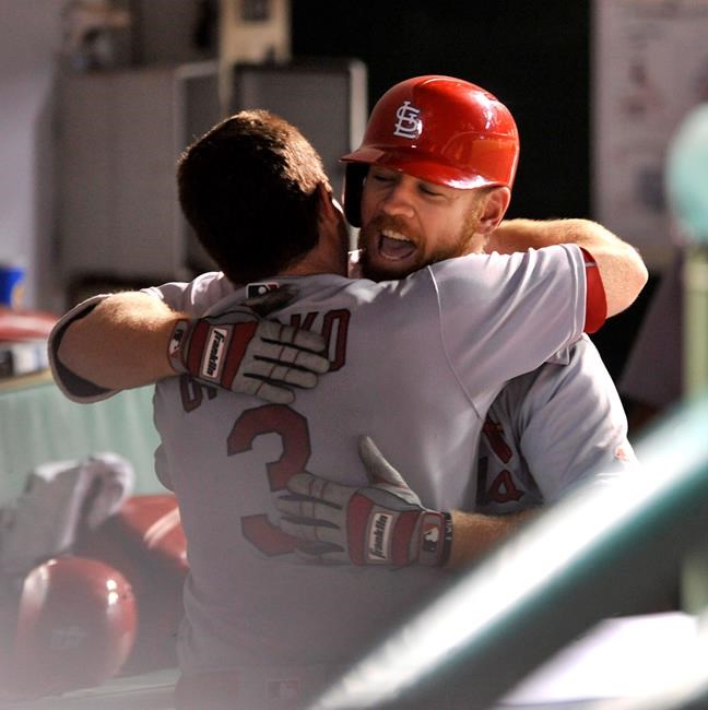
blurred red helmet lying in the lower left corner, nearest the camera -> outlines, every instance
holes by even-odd
[[[42,696],[115,675],[133,644],[135,601],[117,570],[85,557],[50,559],[24,582],[13,688]]]

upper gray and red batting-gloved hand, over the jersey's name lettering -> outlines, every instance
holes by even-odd
[[[287,292],[258,297],[219,316],[181,319],[169,343],[176,372],[205,384],[287,404],[294,388],[312,388],[329,369],[324,339],[308,330],[263,320],[284,305]],[[258,312],[256,312],[258,311]]]

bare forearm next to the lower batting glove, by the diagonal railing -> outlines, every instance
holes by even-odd
[[[462,567],[511,534],[539,509],[508,516],[484,516],[477,512],[452,511],[452,547],[448,568]]]

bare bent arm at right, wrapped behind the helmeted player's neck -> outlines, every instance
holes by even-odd
[[[506,220],[492,233],[485,251],[512,253],[556,244],[577,244],[593,257],[605,291],[607,316],[628,308],[649,277],[632,245],[590,220]]]

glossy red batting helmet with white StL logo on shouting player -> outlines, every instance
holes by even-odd
[[[519,133],[509,109],[484,88],[451,76],[415,76],[381,96],[362,145],[341,159],[349,164],[344,212],[361,226],[369,165],[453,188],[511,187]]]

